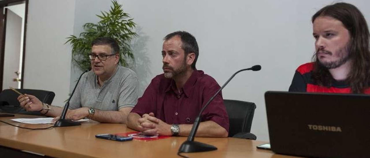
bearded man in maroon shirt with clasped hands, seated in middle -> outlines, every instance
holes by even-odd
[[[185,31],[168,34],[162,47],[164,73],[152,79],[132,109],[127,126],[145,135],[188,136],[204,104],[220,88],[216,80],[196,70],[199,49]],[[227,137],[229,118],[221,93],[201,115],[196,136]]]

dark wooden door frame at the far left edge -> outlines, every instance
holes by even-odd
[[[23,82],[24,82],[24,61],[25,61],[25,57],[26,57],[26,32],[27,32],[27,17],[28,17],[28,0],[2,0],[0,1],[0,11],[3,11],[3,8],[8,6],[10,3],[17,3],[17,2],[21,2],[21,1],[25,1],[26,3],[26,6],[25,6],[25,15],[24,15],[24,32],[23,32],[23,58],[22,58],[22,72],[21,72],[21,89],[23,88]],[[7,10],[6,10],[7,11]],[[6,14],[5,14],[6,15]],[[1,12],[1,16],[3,16],[3,13]],[[6,16],[1,18],[1,19],[4,19],[4,21],[0,21],[1,24],[3,24],[2,28],[1,28],[1,24],[0,24],[0,46],[1,46],[1,49],[0,49],[0,54],[1,54],[1,57],[0,57],[0,60],[1,60],[1,63],[0,63],[0,91],[3,90],[3,74],[4,74],[4,55],[5,55],[5,32],[6,32],[6,20],[5,20]],[[6,87],[4,87],[6,88]],[[6,88],[7,89],[7,88]]]

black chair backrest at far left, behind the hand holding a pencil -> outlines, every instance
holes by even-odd
[[[47,90],[37,89],[17,89],[19,92],[36,96],[41,102],[51,104],[53,102],[55,93]],[[17,100],[18,93],[11,89],[4,89],[0,93],[0,105],[19,106],[20,103]]]

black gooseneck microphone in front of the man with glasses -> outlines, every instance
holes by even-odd
[[[65,103],[64,105],[64,109],[62,111],[62,114],[59,118],[59,120],[55,121],[55,124],[54,124],[54,127],[67,127],[67,126],[79,126],[81,125],[81,123],[79,122],[76,122],[76,121],[71,121],[71,120],[66,120],[65,119],[65,115],[67,114],[67,110],[68,110],[68,107],[69,107],[69,102],[73,96],[73,93],[74,93],[74,90],[76,90],[76,87],[78,85],[78,82],[80,82],[80,79],[82,77],[82,75],[84,75],[84,73],[88,72],[89,70],[86,69],[81,75],[80,75],[80,78],[78,78],[77,80],[77,83],[76,85],[74,86],[74,89],[72,91],[72,94],[70,95],[70,97],[68,98],[68,101],[67,103]]]

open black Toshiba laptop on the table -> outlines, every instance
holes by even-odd
[[[265,93],[271,150],[304,157],[370,157],[370,95]]]

